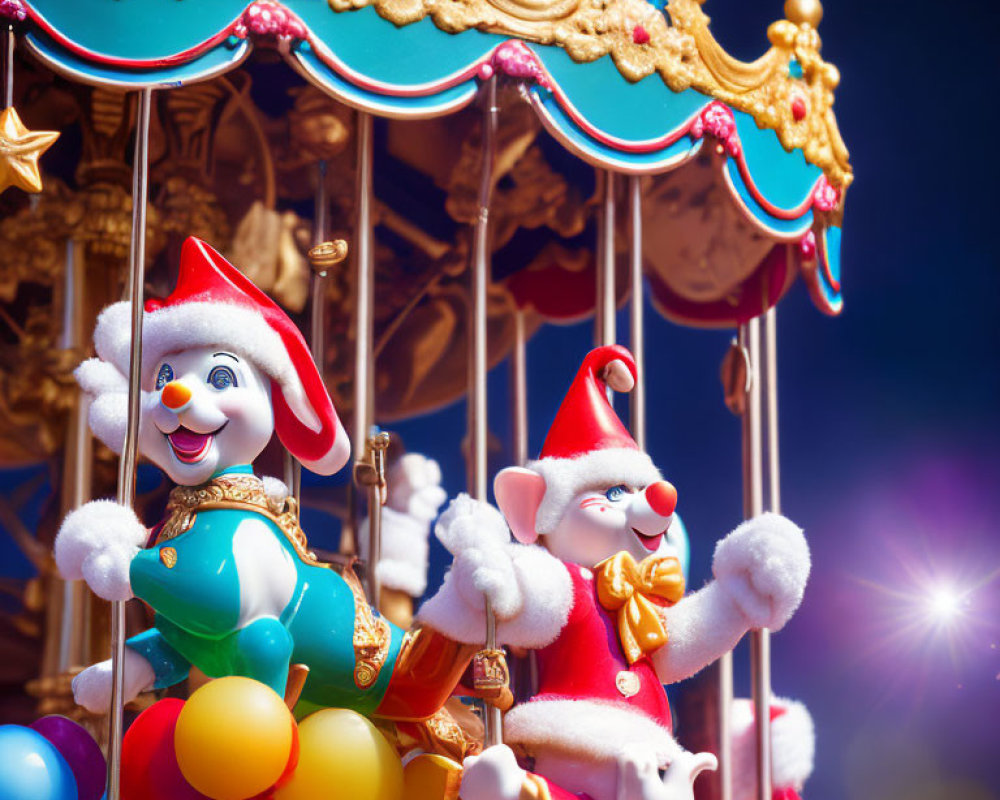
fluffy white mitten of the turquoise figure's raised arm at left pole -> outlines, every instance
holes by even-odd
[[[56,536],[56,566],[66,580],[84,579],[98,597],[128,600],[129,565],[148,536],[131,508],[94,500],[63,520]]]

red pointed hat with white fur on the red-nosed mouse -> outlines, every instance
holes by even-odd
[[[595,348],[584,358],[541,455],[528,464],[545,479],[545,495],[535,518],[538,533],[551,533],[580,492],[662,480],[608,402],[608,385],[629,391],[636,374],[635,359],[620,345]]]

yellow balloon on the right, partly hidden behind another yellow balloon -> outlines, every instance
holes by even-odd
[[[275,800],[399,800],[403,766],[367,719],[327,708],[299,723],[299,763]]]

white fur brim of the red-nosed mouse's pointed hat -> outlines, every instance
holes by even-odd
[[[555,530],[580,492],[619,483],[642,487],[662,480],[648,454],[624,447],[593,450],[576,458],[541,458],[530,462],[528,469],[545,478],[545,496],[535,517],[539,534]]]

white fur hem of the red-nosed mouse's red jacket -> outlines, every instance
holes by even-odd
[[[504,717],[504,741],[597,760],[618,759],[653,748],[665,767],[680,750],[670,731],[645,714],[598,700],[529,700]]]

